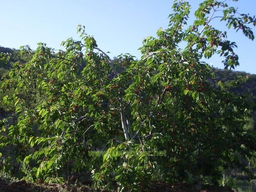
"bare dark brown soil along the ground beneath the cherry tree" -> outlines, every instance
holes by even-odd
[[[77,186],[73,185],[59,185],[59,184],[48,184],[48,183],[28,183],[25,180],[14,181],[8,184],[5,180],[0,178],[0,191],[3,192],[60,192],[60,191],[71,191],[71,192],[92,192],[92,188],[88,186]],[[103,190],[108,192],[108,190]],[[150,188],[150,192],[237,192],[227,187],[216,188],[211,185],[204,185],[200,191],[196,191],[193,186],[187,183],[177,183],[175,185],[166,184],[164,182],[154,182]]]

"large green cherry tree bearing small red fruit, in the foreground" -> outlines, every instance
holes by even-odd
[[[18,120],[2,122],[0,147],[15,147],[26,175],[29,170],[34,181],[62,182],[66,173],[90,170],[95,188],[113,189],[114,181],[121,191],[137,191],[146,190],[156,173],[199,188],[201,178],[218,183],[223,170],[239,164],[234,154],[255,157],[255,132],[244,128],[252,100],[227,89],[244,79],[215,89],[207,82],[209,65],[200,61],[218,53],[225,68],[239,64],[236,44],[210,25],[220,8],[228,28],[250,39],[255,18],[238,14],[226,1],[206,0],[187,26],[188,2],[175,1],[172,8],[169,28],[143,40],[140,60],[121,54],[113,62],[80,25],[81,40],[62,42],[65,51],[44,43],[35,52],[21,48],[31,59],[15,62],[9,73],[8,89],[15,93],[4,101]],[[89,156],[98,149],[107,153]],[[167,156],[111,155],[149,150],[166,150]]]

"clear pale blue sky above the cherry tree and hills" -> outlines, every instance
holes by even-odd
[[[168,27],[172,0],[9,0],[0,1],[0,45],[19,48],[30,45],[36,49],[38,42],[60,49],[60,42],[69,37],[79,39],[76,27],[82,24],[93,35],[100,49],[111,52],[110,57],[131,53],[140,59],[137,50],[142,39],[156,36],[159,27]],[[192,12],[201,0],[189,0]],[[229,1],[239,12],[256,14],[255,0]],[[193,21],[193,14],[191,15]],[[228,31],[228,38],[238,45],[240,66],[236,70],[256,74],[256,39],[251,41],[238,31],[228,30],[217,19],[212,24]],[[256,36],[256,29],[253,28]],[[222,58],[211,58],[208,63],[223,68]]]

